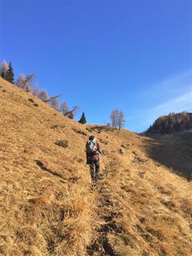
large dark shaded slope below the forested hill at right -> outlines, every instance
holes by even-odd
[[[177,175],[192,174],[192,133],[150,136],[154,140],[144,145],[148,157],[168,167]]]

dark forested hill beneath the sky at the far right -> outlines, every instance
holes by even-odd
[[[170,113],[158,117],[146,133],[178,133],[192,128],[192,113]]]

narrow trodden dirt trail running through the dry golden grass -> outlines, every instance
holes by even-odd
[[[111,160],[105,165],[105,172],[102,175],[102,180],[93,188],[98,193],[99,197],[99,205],[97,207],[99,209],[101,225],[98,230],[96,230],[95,239],[92,244],[87,248],[88,255],[117,255],[108,241],[108,233],[122,232],[115,221],[115,218],[120,215],[120,212],[116,211],[116,207],[111,198],[113,190],[108,182],[110,181],[110,178],[112,178],[110,177],[111,174],[113,176],[115,175],[117,163],[110,155],[108,158]]]

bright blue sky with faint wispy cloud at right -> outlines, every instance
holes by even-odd
[[[191,0],[0,0],[0,62],[34,73],[88,123],[114,108],[142,132],[160,114],[192,111]]]

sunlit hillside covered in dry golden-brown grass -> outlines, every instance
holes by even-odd
[[[0,254],[192,254],[192,184],[174,173],[185,148],[175,156],[174,136],[172,144],[104,128],[63,117],[0,78]],[[85,164],[90,134],[105,151],[96,187]],[[165,143],[179,167],[162,154]],[[190,157],[190,143],[186,150]]]

